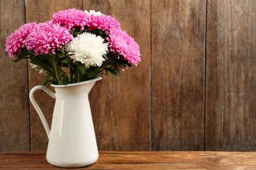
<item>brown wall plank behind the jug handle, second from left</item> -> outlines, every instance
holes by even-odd
[[[30,22],[46,22],[51,20],[51,17],[55,12],[64,9],[77,8],[81,9],[82,1],[52,1],[52,0],[27,0],[26,1],[26,21]],[[45,75],[39,74],[35,69],[29,67],[29,89],[34,86],[43,84],[43,77]],[[51,88],[53,90],[53,88]],[[54,91],[54,90],[53,90]],[[45,118],[49,126],[51,127],[51,119],[53,116],[54,99],[49,97],[46,93],[35,93],[35,100],[40,106],[41,110],[45,114]],[[31,105],[30,107],[30,129],[31,129],[31,150],[46,150],[48,138],[43,128],[43,124],[39,119],[39,116],[35,112],[35,109]]]

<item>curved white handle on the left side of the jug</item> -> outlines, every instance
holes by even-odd
[[[33,105],[33,107],[35,108],[35,110],[37,111],[37,114],[39,115],[42,123],[43,123],[43,127],[45,127],[45,131],[47,133],[47,137],[49,139],[50,137],[50,128],[47,124],[47,121],[45,119],[45,116],[43,115],[42,110],[40,109],[40,107],[37,105],[35,98],[33,97],[33,94],[35,93],[35,91],[37,90],[43,90],[44,92],[46,92],[48,95],[50,95],[51,97],[53,97],[54,99],[56,99],[56,95],[55,93],[53,93],[51,90],[49,90],[49,88],[39,85],[39,86],[35,86],[32,88],[32,90],[30,90],[30,101]]]

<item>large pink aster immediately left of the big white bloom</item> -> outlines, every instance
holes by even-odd
[[[55,54],[54,50],[66,45],[73,39],[70,31],[60,24],[44,22],[37,24],[28,35],[25,45],[28,50],[33,50],[35,56],[39,54]]]

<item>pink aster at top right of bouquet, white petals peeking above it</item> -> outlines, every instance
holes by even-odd
[[[95,10],[90,10],[90,12],[85,10],[85,13],[91,18],[91,22],[88,22],[90,30],[101,29],[102,31],[108,31],[114,27],[120,28],[119,22],[111,16],[95,12]]]

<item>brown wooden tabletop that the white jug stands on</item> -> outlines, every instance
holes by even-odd
[[[96,163],[79,169],[256,169],[256,152],[99,152]],[[0,169],[63,169],[45,152],[0,152]]]

